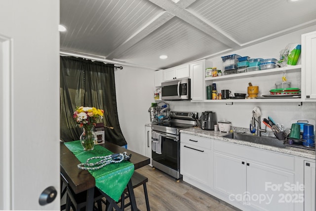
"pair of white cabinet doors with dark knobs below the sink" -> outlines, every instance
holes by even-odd
[[[260,211],[294,210],[293,203],[285,203],[286,195],[294,196],[285,188],[294,184],[293,173],[220,153],[214,153],[213,172],[214,189],[227,195],[229,202]]]

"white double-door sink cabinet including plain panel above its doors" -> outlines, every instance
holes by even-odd
[[[295,184],[294,157],[215,140],[213,156],[214,189],[228,203],[259,211],[294,210],[295,191],[288,188]]]

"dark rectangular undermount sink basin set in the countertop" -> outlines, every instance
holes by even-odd
[[[274,138],[274,137],[256,136],[252,134],[238,133],[238,132],[228,133],[227,135],[223,135],[223,137],[232,138],[236,140],[242,140],[242,141],[248,141],[248,142],[256,143],[256,144],[263,144],[263,145],[268,145],[268,146],[285,148],[283,141],[278,140],[277,138]]]

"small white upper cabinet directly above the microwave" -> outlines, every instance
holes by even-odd
[[[189,64],[163,70],[163,81],[190,78]]]

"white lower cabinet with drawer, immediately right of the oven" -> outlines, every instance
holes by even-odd
[[[211,186],[210,139],[194,135],[181,134],[180,173],[186,177]],[[190,183],[190,181],[187,181]]]

